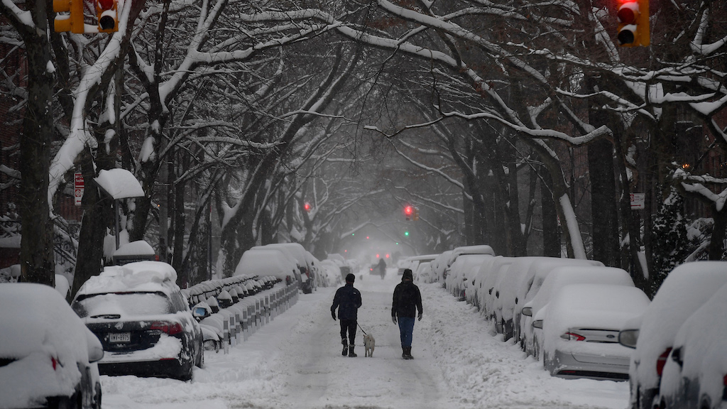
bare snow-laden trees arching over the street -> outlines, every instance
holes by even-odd
[[[649,47],[619,47],[603,0],[117,0],[111,34],[55,32],[47,1],[0,12],[0,189],[19,189],[0,210],[28,281],[52,283],[65,241],[75,292],[108,234],[182,282],[206,277],[212,235],[228,275],[253,245],[324,258],[370,229],[409,253],[592,258],[651,290],[725,258],[723,1],[652,1]],[[145,191],[121,231],[88,182],[69,230],[73,173],[114,167]]]

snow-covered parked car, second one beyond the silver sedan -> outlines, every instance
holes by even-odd
[[[603,263],[577,258],[543,257],[530,265],[527,279],[522,282],[523,286],[515,291],[515,341],[520,343],[523,351],[526,349],[526,333],[532,332],[532,317],[523,314],[523,307],[538,293],[543,282],[545,282],[545,277],[553,269],[561,266],[603,266]]]

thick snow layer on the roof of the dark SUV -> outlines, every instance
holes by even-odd
[[[78,295],[122,291],[169,293],[177,289],[177,271],[161,261],[137,261],[124,266],[108,266],[81,286]]]

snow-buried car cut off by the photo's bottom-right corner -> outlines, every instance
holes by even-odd
[[[679,328],[659,386],[660,409],[727,407],[727,284]]]

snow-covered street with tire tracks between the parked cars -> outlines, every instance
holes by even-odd
[[[415,360],[402,360],[390,320],[401,278],[394,271],[358,274],[355,284],[364,301],[358,322],[377,341],[373,358],[364,357],[361,330],[359,356],[341,356],[335,289],[322,288],[230,354],[206,352],[191,383],[103,376],[103,408],[626,408],[627,383],[550,377],[436,284],[419,285],[425,314],[414,326]]]

